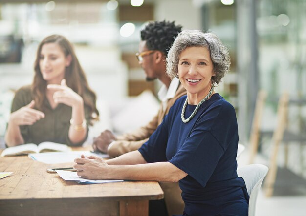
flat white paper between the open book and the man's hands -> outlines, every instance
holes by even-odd
[[[81,157],[81,155],[90,156],[95,155],[89,151],[71,151],[71,152],[44,152],[44,153],[34,153],[29,154],[33,160],[37,160],[39,162],[47,163],[47,164],[55,164],[55,163],[68,163],[74,162],[76,157]],[[103,155],[102,155],[103,156]],[[108,156],[108,155],[105,155]]]

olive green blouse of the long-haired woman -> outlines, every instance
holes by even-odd
[[[20,88],[12,102],[11,112],[19,110],[21,107],[29,104],[33,100],[31,86],[23,86]],[[47,110],[44,112],[45,117],[41,118],[33,125],[22,125],[20,126],[21,134],[24,139],[24,143],[35,143],[39,144],[44,141],[51,141],[66,144],[69,146],[81,146],[87,138],[80,143],[71,143],[68,137],[68,131],[70,127],[70,119],[72,108],[65,104],[58,104],[55,109],[52,109],[49,101],[45,98],[44,105]],[[87,124],[89,122],[89,109],[84,107],[85,118]],[[87,127],[88,128],[88,127]]]

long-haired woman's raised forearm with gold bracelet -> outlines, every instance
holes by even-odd
[[[68,137],[72,143],[79,143],[85,139],[87,134],[87,125],[82,126],[85,121],[83,100],[72,107],[71,119],[72,124],[69,127]]]

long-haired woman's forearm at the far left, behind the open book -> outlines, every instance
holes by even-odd
[[[16,146],[24,143],[19,125],[14,124],[12,121],[8,122],[7,130],[4,137],[7,146]]]

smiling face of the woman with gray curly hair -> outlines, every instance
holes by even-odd
[[[206,47],[187,47],[179,56],[178,78],[187,90],[188,103],[197,105],[211,89],[214,66]]]

